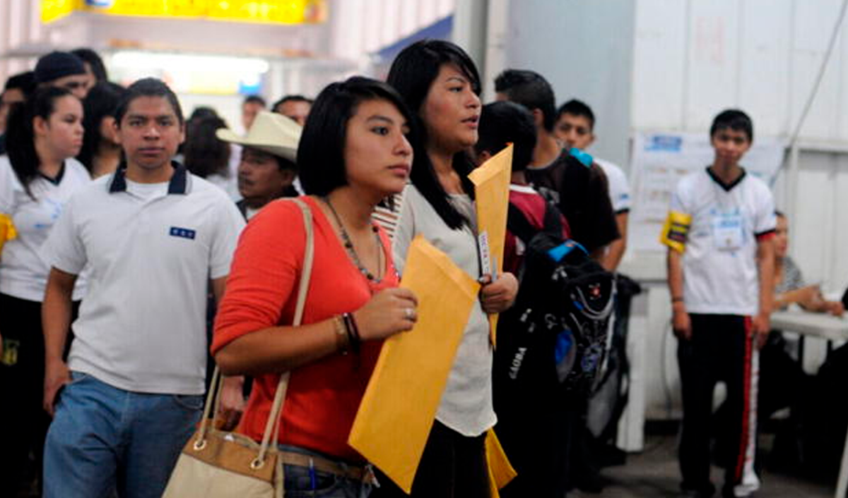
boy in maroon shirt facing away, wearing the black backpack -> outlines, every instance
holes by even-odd
[[[510,231],[518,219],[524,220],[525,239],[545,230],[550,218],[555,221],[555,241],[568,238],[565,218],[553,204],[546,202],[533,187],[527,184],[524,171],[533,160],[536,129],[533,114],[512,102],[494,102],[483,106],[480,117],[479,139],[474,147],[477,163],[513,144],[512,181],[510,185],[510,222],[504,250],[504,271],[524,275],[524,255],[527,241]],[[527,279],[523,279],[527,282]],[[521,314],[521,312],[516,312]],[[564,466],[561,434],[562,396],[554,370],[554,336],[540,340],[531,348],[522,349],[520,327],[510,313],[502,315],[499,322],[499,348],[495,351],[493,396],[498,414],[498,436],[516,468],[518,476],[500,495],[504,498],[523,496],[557,496],[556,478]],[[521,343],[521,344],[519,344]],[[502,347],[500,347],[502,346]],[[527,351],[529,350],[529,351]],[[521,376],[513,358],[522,352]],[[541,357],[541,358],[540,358]],[[550,361],[544,362],[544,359]],[[509,376],[512,375],[513,379]]]

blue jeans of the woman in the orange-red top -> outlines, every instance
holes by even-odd
[[[292,451],[302,455],[321,456],[326,460],[338,462],[344,467],[344,462],[336,458],[306,450],[298,446],[280,445],[281,450]],[[297,465],[283,465],[283,485],[286,487],[286,498],[367,498],[371,494],[371,484],[361,483],[355,479],[347,479],[332,473],[314,470],[313,482],[310,469]]]

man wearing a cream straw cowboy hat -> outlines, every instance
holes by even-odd
[[[298,196],[298,142],[302,128],[292,119],[260,111],[246,136],[220,128],[217,136],[243,146],[238,163],[238,210],[250,219],[265,204],[279,197]]]

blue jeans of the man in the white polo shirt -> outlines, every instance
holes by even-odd
[[[121,390],[71,374],[44,447],[44,498],[159,498],[203,396]]]

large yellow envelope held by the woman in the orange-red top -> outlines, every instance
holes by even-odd
[[[421,235],[402,285],[418,298],[418,322],[383,344],[348,443],[410,493],[480,285]]]

